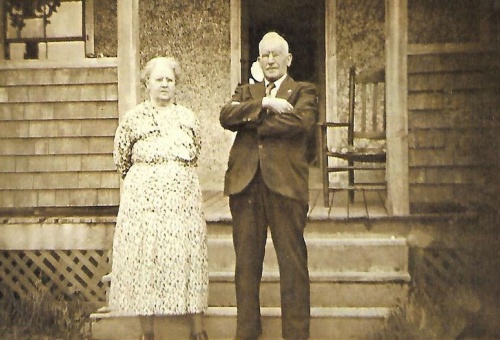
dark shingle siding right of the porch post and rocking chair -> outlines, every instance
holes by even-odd
[[[408,59],[409,166],[412,204],[481,199],[500,124],[496,53],[412,55]]]

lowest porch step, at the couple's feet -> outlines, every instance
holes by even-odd
[[[389,315],[388,308],[312,308],[311,340],[367,339],[382,327]],[[281,311],[261,308],[263,334],[260,340],[281,339]],[[92,315],[91,332],[95,340],[138,339],[140,323],[137,317],[106,313]],[[236,308],[212,307],[205,314],[205,328],[210,339],[234,339]],[[155,321],[155,339],[189,339],[187,317],[161,317]]]

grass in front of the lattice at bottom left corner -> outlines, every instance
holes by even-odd
[[[29,298],[22,299],[4,285],[0,288],[2,339],[88,339],[85,326],[91,311],[78,293],[54,296],[40,282]]]

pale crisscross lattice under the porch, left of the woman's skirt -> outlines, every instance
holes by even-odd
[[[101,278],[109,271],[108,252],[103,250],[0,252],[0,290],[8,288],[23,298],[43,284],[55,296],[79,292],[89,302],[105,301]]]

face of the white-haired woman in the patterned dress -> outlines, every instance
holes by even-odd
[[[151,71],[146,86],[153,104],[158,106],[170,104],[175,97],[174,70],[167,63],[159,62]]]

